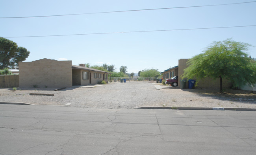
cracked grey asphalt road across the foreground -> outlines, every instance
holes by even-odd
[[[0,105],[0,154],[256,152],[256,112]]]

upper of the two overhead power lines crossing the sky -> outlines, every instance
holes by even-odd
[[[89,15],[89,14],[117,13],[117,12],[131,12],[131,11],[148,11],[148,10],[161,10],[161,9],[181,9],[181,8],[190,8],[190,7],[225,6],[225,5],[235,5],[235,4],[245,4],[245,3],[255,3],[255,2],[256,1],[241,2],[241,3],[229,3],[229,4],[214,4],[214,5],[205,5],[205,6],[166,7],[166,8],[156,8],[156,9],[138,9],[138,10],[108,11],[108,12],[95,12],[95,13],[76,13],[76,14],[66,14],[66,15],[27,16],[27,17],[0,17],[0,18],[39,18],[39,17],[56,17],[56,16],[74,16],[74,15]]]

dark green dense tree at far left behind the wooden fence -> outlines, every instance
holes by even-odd
[[[29,54],[26,48],[18,47],[15,42],[0,37],[0,69],[18,66]]]

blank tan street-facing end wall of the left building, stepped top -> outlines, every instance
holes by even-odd
[[[71,67],[72,61],[46,58],[20,62],[19,87],[72,87]]]

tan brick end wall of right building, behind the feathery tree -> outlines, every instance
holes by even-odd
[[[179,81],[181,79],[181,75],[184,73],[184,69],[187,68],[187,61],[189,59],[179,59]],[[197,79],[195,79],[197,80]],[[222,87],[223,88],[230,88],[232,83],[230,83],[227,79],[222,80]],[[203,78],[197,81],[196,88],[219,88],[220,80],[212,79],[212,78]],[[188,88],[188,83],[186,83],[186,88]]]

